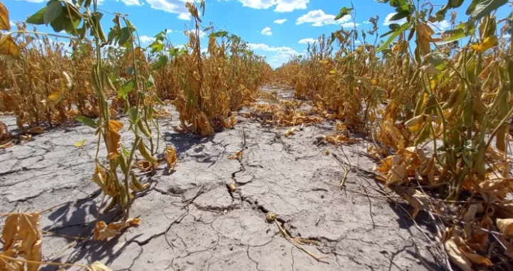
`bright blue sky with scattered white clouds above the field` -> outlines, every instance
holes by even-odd
[[[41,9],[47,0],[2,0],[9,9],[11,21],[22,21]],[[128,18],[138,29],[143,44],[150,44],[152,37],[164,29],[170,29],[168,37],[175,45],[184,44],[184,29],[191,26],[190,16],[185,9],[188,0],[102,0],[100,9],[129,14]],[[380,33],[388,31],[387,19],[394,14],[388,4],[372,0],[353,0],[355,16],[346,16],[338,21],[333,18],[342,6],[351,6],[349,0],[205,0],[204,26],[213,22],[214,26],[241,36],[255,53],[266,56],[273,67],[286,62],[291,55],[304,53],[306,43],[321,34],[330,34],[343,28],[370,29],[366,21],[371,16],[380,16]],[[447,0],[431,0],[432,4],[445,4]],[[466,21],[465,4],[458,10],[458,19]],[[435,8],[436,10],[437,8]],[[510,6],[497,11],[499,18],[507,16]],[[108,31],[111,21],[105,14],[103,26]],[[447,29],[447,21],[437,23],[440,29]],[[435,27],[433,27],[435,29]],[[51,32],[46,26],[39,31]],[[436,31],[436,30],[435,30]],[[205,47],[207,35],[202,39]],[[368,36],[373,42],[373,37]]]

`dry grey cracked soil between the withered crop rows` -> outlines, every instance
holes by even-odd
[[[366,172],[375,161],[365,154],[365,140],[338,148],[317,145],[318,136],[333,133],[333,123],[286,138],[286,128],[242,117],[234,129],[195,138],[172,130],[178,121],[170,111],[173,120],[159,121],[160,148],[174,146],[179,161],[172,173],[162,164],[155,175],[143,175],[150,188],[136,194],[130,211],[140,218],[139,227],[106,242],[90,240],[103,195],[91,182],[94,131],[81,125],[0,150],[0,213],[43,212],[46,262],[99,260],[113,270],[441,269],[426,238],[432,238],[429,223],[418,218],[415,225],[404,213],[407,206],[377,191],[384,188]],[[14,118],[0,121],[15,129]],[[122,139],[133,142],[126,128]],[[237,150],[244,150],[242,160],[228,159]],[[347,190],[340,189],[340,160],[348,165]],[[237,186],[233,193],[230,183]],[[276,223],[291,237],[309,241],[302,246],[322,261],[281,235],[276,223],[266,221],[268,212],[276,213]],[[100,214],[100,220],[117,219],[115,210]]]

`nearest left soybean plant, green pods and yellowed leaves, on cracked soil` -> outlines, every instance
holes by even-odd
[[[92,9],[91,9],[92,5]],[[105,211],[110,210],[116,204],[120,206],[123,218],[127,220],[130,214],[130,202],[133,195],[130,190],[144,190],[142,185],[132,170],[135,151],[139,150],[152,165],[157,163],[154,157],[157,152],[152,138],[152,128],[155,121],[152,119],[153,108],[152,96],[147,96],[147,88],[152,87],[152,78],[145,78],[139,73],[142,55],[141,48],[136,46],[135,27],[130,21],[121,14],[114,15],[114,26],[111,28],[108,37],[105,36],[100,21],[103,14],[98,11],[96,0],[86,1],[48,1],[46,7],[29,17],[27,22],[31,24],[50,24],[54,31],[66,31],[73,39],[81,43],[90,43],[94,45],[96,55],[90,71],[90,86],[93,88],[95,96],[98,97],[98,120],[94,121],[86,116],[76,116],[76,120],[95,128],[95,134],[98,135],[98,150],[95,158],[95,173],[93,181],[103,190],[105,195],[111,197],[110,204]],[[123,27],[121,25],[123,22]],[[88,39],[90,38],[90,39]],[[108,67],[105,58],[102,57],[102,51],[108,45],[115,45],[125,48],[125,54],[132,59],[132,65],[128,68],[130,78],[123,80],[115,78],[120,82],[120,88],[116,90],[111,77],[108,73]],[[109,107],[109,91],[117,92],[120,98],[125,99],[125,113],[128,113],[130,128],[135,135],[132,148],[125,148],[121,144],[120,131],[123,123],[113,119],[115,112]],[[130,105],[128,94],[136,93],[135,104]],[[151,151],[147,150],[143,138],[151,145]],[[103,165],[98,158],[100,142],[103,140],[107,150],[108,165]]]

